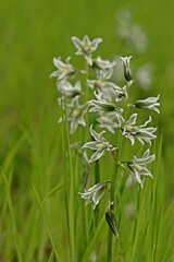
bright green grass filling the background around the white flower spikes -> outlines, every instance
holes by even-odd
[[[70,257],[86,262],[95,257],[94,250],[97,261],[107,261],[104,203],[95,225],[91,206],[84,207],[77,194],[82,166],[74,152],[69,154],[69,162],[73,162],[74,184],[64,177],[70,172],[63,154],[62,128],[57,124],[61,112],[57,106],[54,81],[49,74],[53,57],[65,58],[74,52],[70,41],[73,35],[101,36],[104,45],[99,52],[105,58],[132,55],[126,53],[116,35],[115,13],[124,7],[133,11],[135,21],[148,33],[149,48],[146,53],[135,56],[134,61],[135,66],[154,63],[154,83],[148,94],[161,94],[161,115],[157,119],[154,179],[147,179],[144,190],[135,184],[119,192],[120,238],[113,239],[113,255],[116,262],[174,261],[173,2],[146,1],[141,8],[140,2],[133,4],[126,0],[116,4],[113,0],[110,3],[7,0],[0,1],[2,262],[61,262],[70,261]],[[139,93],[147,95],[141,90]],[[80,131],[76,135],[82,136]],[[107,160],[104,157],[103,163],[99,163],[104,178],[112,171],[112,167],[105,168]],[[67,199],[71,205],[64,202],[64,193],[69,190],[73,195]],[[67,209],[74,222],[71,217],[66,221]]]

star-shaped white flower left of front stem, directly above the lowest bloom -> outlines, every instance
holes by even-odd
[[[90,134],[94,136],[95,141],[87,142],[83,145],[83,148],[89,148],[96,151],[88,163],[95,162],[99,159],[101,156],[103,156],[107,151],[114,151],[115,147],[107,141],[102,135],[105,131],[102,131],[100,133],[97,133],[94,129],[92,126],[90,126]]]

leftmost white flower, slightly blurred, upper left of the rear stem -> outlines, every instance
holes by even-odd
[[[70,63],[71,57],[66,58],[65,62],[61,60],[61,57],[53,58],[53,64],[57,68],[57,71],[50,74],[50,78],[57,78],[58,80],[66,79],[75,74],[75,68]]]

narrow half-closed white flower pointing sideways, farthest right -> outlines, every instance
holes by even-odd
[[[136,100],[134,105],[137,108],[146,108],[149,110],[154,110],[158,114],[160,114],[160,110],[158,108],[160,106],[160,103],[158,102],[159,98],[160,98],[160,95],[158,95],[157,97],[148,97],[147,99]]]

